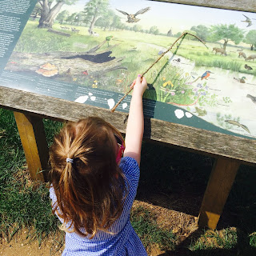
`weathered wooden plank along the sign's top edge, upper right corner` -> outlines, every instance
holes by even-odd
[[[254,0],[151,0],[158,2],[174,2],[191,6],[206,6],[228,10],[242,10],[256,12],[256,2]],[[182,15],[182,14],[181,14]]]

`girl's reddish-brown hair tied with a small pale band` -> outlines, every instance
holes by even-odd
[[[127,191],[116,162],[114,134],[122,137],[102,118],[86,118],[68,122],[55,135],[50,147],[50,182],[57,197],[53,212],[64,220],[64,226],[70,222],[66,230],[72,227],[93,238],[97,230],[107,232],[122,214]]]

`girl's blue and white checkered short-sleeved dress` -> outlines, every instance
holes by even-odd
[[[138,188],[139,167],[134,158],[122,158],[120,168],[126,175],[130,190],[122,214],[118,220],[110,226],[108,234],[99,230],[94,238],[90,236],[82,238],[76,233],[66,232],[66,248],[62,253],[68,256],[143,256],[147,255],[141,240],[130,224],[130,209],[134,202]],[[50,187],[50,198],[52,203],[57,201],[53,186]],[[60,221],[63,220],[60,218]],[[82,230],[85,232],[85,230]]]

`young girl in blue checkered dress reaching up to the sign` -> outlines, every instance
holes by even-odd
[[[54,137],[50,198],[66,231],[62,255],[146,255],[130,224],[138,187],[146,86],[146,79],[138,75],[126,147],[118,130],[96,117],[69,122]]]

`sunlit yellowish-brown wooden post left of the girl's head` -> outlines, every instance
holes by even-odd
[[[30,176],[33,180],[46,182],[49,150],[42,118],[19,112],[14,112],[14,117],[22,140]],[[40,172],[41,170],[44,171]]]

